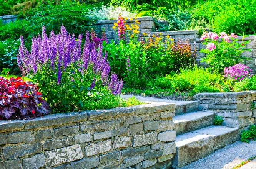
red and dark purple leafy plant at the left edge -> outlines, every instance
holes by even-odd
[[[0,120],[30,119],[50,113],[50,107],[38,87],[21,77],[9,80],[0,76]]]

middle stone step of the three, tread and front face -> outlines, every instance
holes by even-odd
[[[176,135],[213,125],[215,112],[196,111],[173,117]]]

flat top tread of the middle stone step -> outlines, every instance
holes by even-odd
[[[205,116],[215,115],[216,112],[211,111],[195,111],[190,113],[184,113],[173,117],[173,123],[182,123],[186,121],[196,120]]]

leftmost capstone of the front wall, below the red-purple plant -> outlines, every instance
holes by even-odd
[[[23,122],[18,120],[10,120],[10,121],[1,120],[0,125],[1,125],[0,133],[22,130],[24,128]]]

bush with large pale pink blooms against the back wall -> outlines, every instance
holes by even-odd
[[[226,32],[221,32],[219,34],[214,32],[203,32],[200,37],[203,44],[206,45],[206,49],[201,49],[200,52],[205,53],[201,62],[206,62],[209,64],[209,68],[212,71],[223,73],[225,67],[230,67],[238,64],[246,57],[241,56],[245,49],[245,44],[249,41],[243,41],[242,43],[237,43],[237,35],[235,33],[226,34]]]

